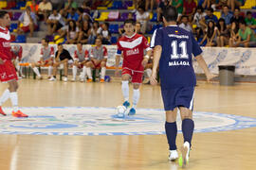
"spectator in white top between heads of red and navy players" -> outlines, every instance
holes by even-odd
[[[145,11],[145,8],[139,6],[136,12],[137,22],[141,24],[141,32],[143,34],[147,31],[148,21],[150,20],[149,12]]]

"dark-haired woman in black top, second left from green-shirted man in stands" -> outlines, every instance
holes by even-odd
[[[218,27],[218,37],[217,37],[217,45],[225,46],[229,44],[229,29],[226,26],[226,22],[223,18],[219,19],[217,24]]]

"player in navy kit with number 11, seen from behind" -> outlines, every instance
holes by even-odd
[[[192,67],[192,55],[204,70],[208,81],[214,76],[210,74],[202,49],[191,32],[176,26],[177,11],[174,7],[166,8],[163,21],[166,27],[156,30],[153,38],[154,62],[151,84],[157,84],[156,68],[159,64],[161,93],[166,111],[165,130],[169,143],[169,160],[178,158],[176,148],[176,109],[180,110],[184,144],[181,148],[184,164],[189,161],[194,124],[192,121],[193,94],[196,78]]]

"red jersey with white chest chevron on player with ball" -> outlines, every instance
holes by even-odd
[[[122,36],[118,42],[117,55],[123,54],[122,68],[128,68],[133,71],[143,71],[141,64],[144,57],[144,49],[151,50],[147,39],[135,33],[132,37]]]

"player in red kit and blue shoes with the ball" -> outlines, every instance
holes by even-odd
[[[118,52],[116,56],[116,76],[119,73],[120,56],[123,56],[121,71],[121,90],[124,97],[123,106],[128,108],[129,102],[129,79],[132,79],[134,86],[133,106],[128,115],[136,114],[137,102],[139,99],[139,86],[142,83],[144,68],[151,56],[152,49],[149,47],[147,39],[135,32],[135,21],[126,20],[124,22],[125,34],[119,39]],[[144,50],[146,55],[144,56]]]

